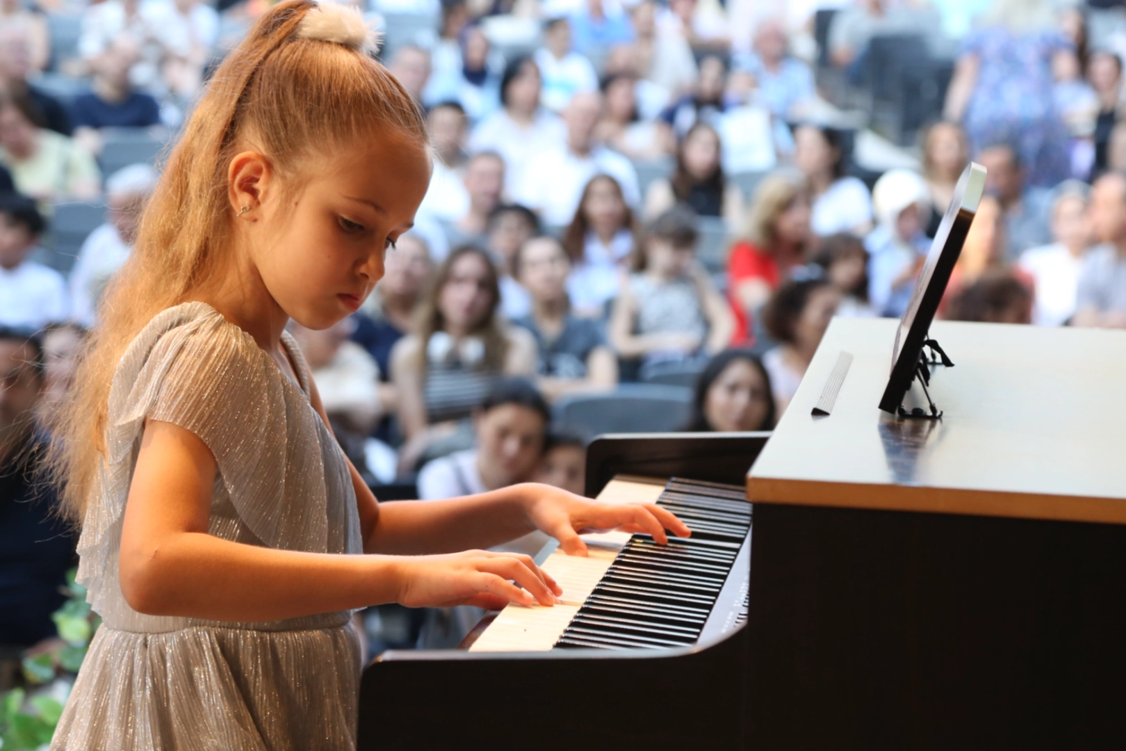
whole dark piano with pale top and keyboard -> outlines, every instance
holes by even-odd
[[[725,545],[686,569],[609,539],[546,637],[502,613],[384,653],[359,748],[1126,745],[1126,332],[936,323],[935,421],[876,409],[894,325],[834,320],[769,440],[596,440],[588,494],[655,492]]]

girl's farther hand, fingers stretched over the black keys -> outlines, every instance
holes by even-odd
[[[557,539],[568,555],[587,555],[580,530],[643,533],[661,545],[669,542],[665,529],[677,537],[692,534],[683,521],[655,503],[602,503],[538,483],[527,483],[524,490],[528,519]]]

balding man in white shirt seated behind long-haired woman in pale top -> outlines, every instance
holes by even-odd
[[[598,92],[577,93],[563,113],[564,144],[534,155],[513,196],[539,214],[548,225],[564,225],[574,216],[582,190],[600,172],[622,186],[626,203],[640,203],[637,172],[629,160],[595,142],[595,126],[602,107]]]

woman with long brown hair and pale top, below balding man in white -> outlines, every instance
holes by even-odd
[[[622,288],[635,235],[633,211],[618,181],[609,175],[590,178],[563,233],[563,248],[571,259],[566,288],[575,315],[606,315],[606,304]]]

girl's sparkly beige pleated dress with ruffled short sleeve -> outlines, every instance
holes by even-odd
[[[146,616],[122,596],[122,520],[145,418],[199,436],[218,471],[208,531],[291,551],[360,553],[348,466],[309,401],[254,340],[205,303],[158,314],[118,365],[109,462],[79,542],[104,618],[52,749],[309,751],[356,742],[359,640],[350,611],[270,623]],[[222,579],[214,582],[223,585]]]

